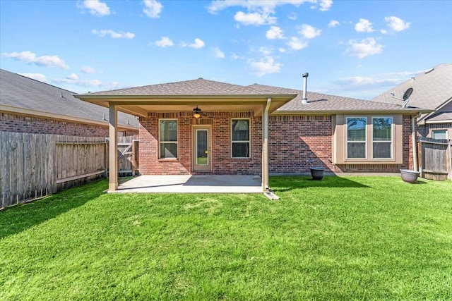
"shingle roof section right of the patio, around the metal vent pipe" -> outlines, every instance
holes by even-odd
[[[286,93],[295,93],[297,97],[292,101],[281,106],[275,113],[417,113],[426,111],[418,108],[403,108],[400,104],[383,104],[379,102],[370,102],[369,100],[356,99],[350,97],[340,97],[336,95],[321,94],[316,92],[307,92],[308,104],[303,104],[303,91],[286,89],[281,87],[272,87],[267,85],[254,84],[249,87],[261,90],[278,91]],[[428,111],[428,110],[427,110]]]

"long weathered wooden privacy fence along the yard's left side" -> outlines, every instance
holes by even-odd
[[[121,137],[119,174],[135,174],[138,166],[136,136]],[[0,208],[107,176],[105,137],[0,132]],[[126,168],[126,169],[124,169]]]

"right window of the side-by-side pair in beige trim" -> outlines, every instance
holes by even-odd
[[[372,118],[372,154],[374,159],[393,157],[393,118]]]

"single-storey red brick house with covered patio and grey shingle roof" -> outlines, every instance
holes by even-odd
[[[203,78],[75,97],[109,108],[110,140],[118,111],[139,116],[141,174],[259,174],[264,192],[270,173],[309,164],[335,173],[412,168],[412,118],[430,112]],[[109,190],[117,190],[110,163]]]

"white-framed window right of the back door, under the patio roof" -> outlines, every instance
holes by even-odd
[[[232,158],[249,158],[249,119],[232,119]]]

